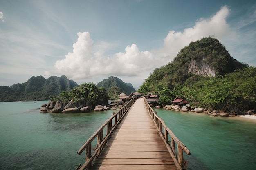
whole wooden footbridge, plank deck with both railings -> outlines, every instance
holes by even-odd
[[[85,163],[76,170],[183,170],[188,163],[183,152],[190,154],[145,98],[134,98],[113,113],[77,153],[84,150]]]

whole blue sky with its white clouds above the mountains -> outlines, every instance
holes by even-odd
[[[135,89],[191,41],[256,66],[255,0],[0,0],[0,86],[115,76]]]

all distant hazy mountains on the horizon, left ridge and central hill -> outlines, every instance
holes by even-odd
[[[22,84],[13,84],[10,87],[0,86],[0,102],[49,100],[51,95],[58,96],[62,91],[70,91],[75,86],[78,84],[67,79],[65,75],[51,76],[48,79],[43,76],[33,76]],[[106,88],[110,97],[112,94],[126,93],[129,95],[135,92],[132,84],[124,83],[113,76],[99,82],[97,86]]]

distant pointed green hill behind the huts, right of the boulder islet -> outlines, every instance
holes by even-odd
[[[108,79],[104,79],[96,86],[105,88],[111,98],[116,98],[117,95],[121,93],[126,93],[127,95],[130,95],[130,93],[135,92],[132,84],[125,83],[121,79],[114,76],[110,76],[108,77]]]

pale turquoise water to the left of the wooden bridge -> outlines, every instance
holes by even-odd
[[[77,150],[112,115],[40,113],[45,103],[0,102],[1,170],[75,170]]]

